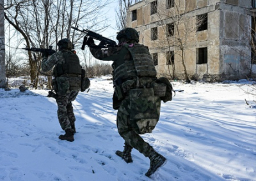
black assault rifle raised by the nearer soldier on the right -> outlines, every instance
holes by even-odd
[[[100,45],[102,45],[102,47],[103,47],[103,46],[106,46],[106,47],[116,47],[116,42],[115,42],[115,41],[113,41],[113,40],[111,40],[111,39],[109,39],[109,38],[106,38],[106,37],[104,37],[104,36],[101,36],[101,35],[98,34],[98,33],[95,33],[95,32],[90,31],[90,30],[88,30],[88,29],[83,29],[83,30],[81,30],[81,29],[78,29],[77,27],[74,27],[74,26],[72,26],[71,28],[72,28],[72,29],[75,29],[76,31],[80,31],[80,32],[82,32],[82,33],[85,33],[86,36],[90,36],[90,37],[92,37],[92,38],[95,39],[95,40],[99,40],[99,41],[100,41]],[[84,47],[85,47],[85,45],[86,45],[85,43],[86,43],[86,42],[83,42],[83,45],[82,45],[82,47],[81,47],[82,50],[84,50]]]

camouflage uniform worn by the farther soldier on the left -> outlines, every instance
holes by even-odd
[[[63,64],[66,63],[65,59],[69,59],[70,57],[74,57],[76,61],[79,61],[77,55],[70,52],[69,48],[61,48],[60,51],[52,54],[49,58],[47,57],[47,55],[44,55],[42,60],[42,70],[49,71],[54,68],[54,71],[52,73],[54,76],[54,80],[52,81],[52,87],[56,92],[54,98],[56,99],[56,103],[58,105],[58,120],[60,122],[61,128],[66,133],[67,131],[70,131],[72,132],[72,134],[74,134],[76,133],[76,117],[74,115],[72,101],[76,99],[76,96],[81,89],[81,66],[78,67],[79,64],[77,64],[77,67],[74,68],[77,69],[77,73],[63,73],[62,75],[58,75],[58,73],[56,73],[58,71],[58,66],[63,67]],[[72,138],[68,141],[74,141],[74,139]]]

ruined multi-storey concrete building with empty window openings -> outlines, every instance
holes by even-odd
[[[140,33],[158,76],[255,78],[254,12],[254,0],[143,0],[127,11],[127,27]]]

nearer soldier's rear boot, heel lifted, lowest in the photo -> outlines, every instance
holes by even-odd
[[[158,154],[153,148],[148,157],[150,159],[150,168],[148,169],[147,173],[145,173],[145,175],[150,177],[157,171],[158,168],[164,166],[167,161],[165,157],[161,156],[161,154]]]

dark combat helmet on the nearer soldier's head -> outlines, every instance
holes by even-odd
[[[120,41],[122,38],[126,40],[134,40],[136,41],[136,43],[138,43],[140,40],[138,31],[136,31],[136,29],[133,29],[131,27],[127,27],[125,29],[122,29],[120,32],[118,32],[116,39]]]

